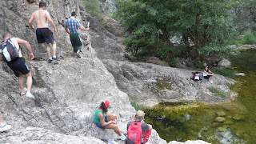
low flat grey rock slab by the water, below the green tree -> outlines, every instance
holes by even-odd
[[[226,84],[234,82],[214,74],[213,84],[202,75],[200,83],[190,80],[192,70],[110,59],[103,59],[102,62],[114,75],[118,87],[144,106],[154,106],[158,102],[222,102],[223,99],[211,94],[209,88],[228,92]]]

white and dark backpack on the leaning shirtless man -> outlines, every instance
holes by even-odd
[[[14,42],[9,39],[2,41],[0,46],[0,54],[2,55],[2,60],[4,62],[13,62],[19,56]]]

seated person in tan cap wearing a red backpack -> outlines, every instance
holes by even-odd
[[[128,122],[126,144],[144,144],[149,140],[152,126],[141,122],[144,116],[145,113],[142,110],[138,110],[134,121]]]

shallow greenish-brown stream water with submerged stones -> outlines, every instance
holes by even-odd
[[[145,110],[145,121],[167,142],[256,143],[256,50],[242,51],[231,62],[234,70],[246,74],[232,88],[238,92],[234,102],[163,103]]]

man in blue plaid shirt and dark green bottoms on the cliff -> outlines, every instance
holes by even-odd
[[[78,28],[80,30],[90,30],[89,28],[83,28],[78,22],[77,14],[76,12],[71,13],[71,17],[66,20],[65,30],[67,34],[70,34],[70,42],[73,46],[74,54],[77,56],[77,58],[81,58],[79,55],[80,51],[82,50],[82,42],[78,34]]]

